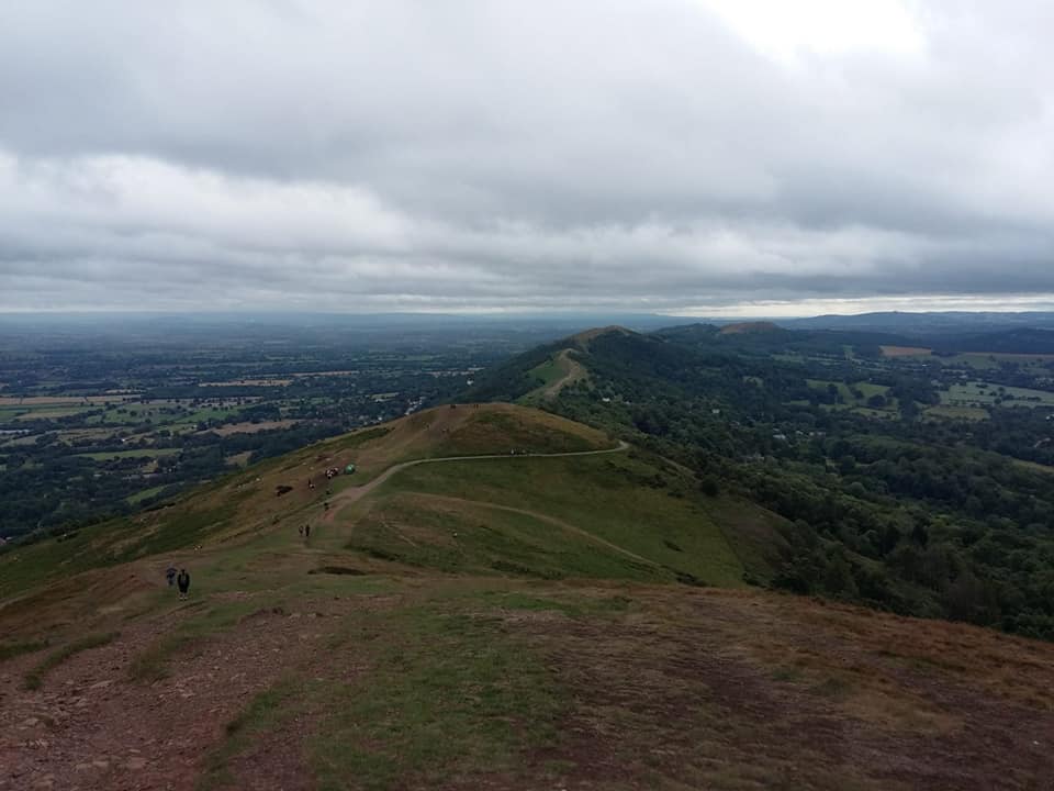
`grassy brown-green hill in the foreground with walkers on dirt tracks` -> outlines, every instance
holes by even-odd
[[[610,331],[541,357],[607,354],[613,333],[662,345]],[[1054,646],[747,584],[787,528],[520,405],[318,443],[0,554],[0,788],[1050,777]]]

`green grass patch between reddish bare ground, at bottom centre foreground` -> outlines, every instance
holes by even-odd
[[[470,788],[558,737],[558,679],[498,620],[408,608],[358,619],[348,639],[371,670],[328,688],[307,743],[319,791]]]

